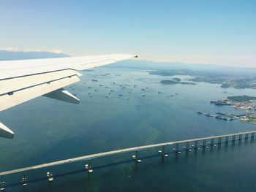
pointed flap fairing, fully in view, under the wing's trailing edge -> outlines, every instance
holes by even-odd
[[[72,95],[72,93],[69,93],[68,91],[64,90],[64,88],[59,88],[56,91],[52,91],[50,93],[46,93],[43,96],[50,97],[51,99],[57,99],[60,101],[69,102],[72,104],[79,104],[80,100]]]

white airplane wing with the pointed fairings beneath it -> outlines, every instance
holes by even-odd
[[[78,104],[79,99],[64,87],[80,81],[78,71],[137,57],[135,55],[97,55],[69,58],[43,58],[0,61],[0,111],[37,96],[48,96]],[[0,122],[0,137],[14,133]]]

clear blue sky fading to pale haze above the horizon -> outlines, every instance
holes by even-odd
[[[255,0],[1,0],[0,48],[256,67]]]

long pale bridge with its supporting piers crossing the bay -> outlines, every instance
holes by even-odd
[[[47,164],[39,164],[39,165],[35,165],[35,166],[28,166],[28,167],[21,168],[21,169],[13,169],[13,170],[6,171],[6,172],[0,172],[0,176],[7,175],[7,174],[16,174],[16,173],[20,173],[20,172],[27,172],[27,171],[31,171],[34,169],[42,169],[42,168],[46,168],[49,166],[57,166],[60,164],[68,164],[68,163],[72,163],[75,161],[84,161],[84,160],[89,160],[89,159],[93,159],[93,158],[103,157],[106,155],[115,155],[118,153],[127,153],[127,152],[134,152],[134,151],[136,152],[136,155],[132,155],[132,157],[135,159],[135,161],[140,162],[140,160],[138,161],[138,151],[140,151],[140,150],[162,147],[162,150],[159,150],[159,153],[161,153],[162,155],[165,155],[165,147],[168,145],[175,145],[176,147],[173,148],[173,151],[176,151],[176,153],[180,153],[179,148],[178,148],[179,147],[178,145],[180,145],[180,144],[186,144],[186,146],[183,147],[184,150],[191,151],[190,150],[191,147],[194,148],[195,150],[197,150],[197,149],[199,149],[199,147],[208,147],[207,145],[216,146],[215,143],[220,145],[222,143],[222,139],[225,139],[225,143],[229,142],[230,140],[232,142],[236,142],[237,137],[238,137],[238,141],[241,141],[242,139],[249,139],[249,137],[251,139],[254,139],[255,133],[256,133],[256,131],[246,131],[246,132],[239,132],[236,134],[224,134],[224,135],[219,135],[219,136],[201,137],[201,138],[196,138],[196,139],[186,139],[186,140],[180,140],[180,141],[175,141],[175,142],[162,142],[162,143],[153,144],[153,145],[129,147],[129,148],[121,149],[121,150],[111,150],[111,151],[103,152],[103,153],[84,155],[84,156],[80,156],[80,157],[76,157],[76,158],[68,158],[68,159],[64,159],[61,161],[54,161],[54,162],[47,163]],[[243,138],[243,136],[244,136],[244,138]],[[201,143],[198,146],[198,142],[200,142],[200,141],[203,141],[203,144]],[[191,143],[194,145],[191,145]]]

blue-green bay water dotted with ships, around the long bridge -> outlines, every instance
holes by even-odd
[[[241,94],[255,96],[254,90],[224,90],[208,83],[162,85],[159,81],[170,77],[146,70],[101,67],[83,74],[81,82],[67,87],[80,98],[78,105],[39,97],[1,112],[1,121],[15,131],[14,139],[0,139],[1,171],[123,147],[255,130],[255,125],[239,120],[223,121],[195,113],[241,113],[209,101]],[[165,161],[154,156],[137,166],[133,162],[104,166],[130,160],[132,154],[109,156],[91,161],[94,167],[103,166],[91,175],[81,171],[86,161],[57,166],[50,171],[63,177],[51,184],[47,180],[29,183],[26,191],[254,191],[255,144],[249,140],[181,153],[178,158],[170,154]],[[140,155],[156,155],[157,150]],[[29,180],[41,178],[48,170],[1,180],[10,184],[23,175]],[[72,174],[74,170],[77,172]],[[21,186],[7,189],[23,191]]]

